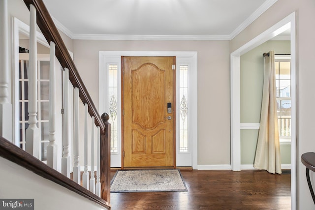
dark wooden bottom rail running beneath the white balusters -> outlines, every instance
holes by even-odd
[[[45,163],[41,162],[28,152],[20,149],[19,147],[15,146],[11,142],[7,141],[3,137],[0,136],[0,156],[8,159],[32,172],[35,174],[54,181],[57,184],[66,187],[67,189],[97,203],[98,205],[106,208],[111,209],[111,205],[109,202],[99,198],[94,193],[90,192],[89,190],[85,189],[84,187],[80,186],[76,182],[68,179],[67,177],[63,176],[58,171],[50,168]]]

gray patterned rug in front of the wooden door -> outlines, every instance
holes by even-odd
[[[178,169],[119,170],[110,192],[188,191]]]

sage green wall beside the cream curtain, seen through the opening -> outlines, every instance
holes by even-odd
[[[259,123],[264,79],[263,53],[290,54],[290,41],[267,41],[241,56],[241,123]],[[241,164],[253,164],[258,129],[241,130]],[[281,145],[281,163],[290,164],[290,145]]]

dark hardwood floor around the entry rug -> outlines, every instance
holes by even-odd
[[[111,177],[116,171],[111,172]],[[290,210],[290,174],[181,170],[188,192],[111,193],[112,210]]]

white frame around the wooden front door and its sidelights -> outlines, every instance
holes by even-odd
[[[180,153],[178,146],[178,131],[179,124],[176,121],[176,166],[192,166],[193,169],[197,169],[197,52],[178,52],[178,51],[99,51],[98,53],[98,68],[99,68],[99,113],[108,113],[109,101],[108,91],[106,91],[108,81],[108,75],[106,72],[108,64],[117,64],[118,69],[121,69],[121,57],[122,56],[175,56],[176,57],[176,74],[179,72],[180,64],[189,65],[189,153]],[[118,71],[118,110],[121,110],[121,73]],[[179,74],[177,74],[179,75]],[[178,89],[179,82],[176,82],[176,89]],[[176,93],[179,91],[176,90]],[[176,95],[176,103],[178,104],[179,99]],[[179,118],[179,106],[176,106],[176,118]],[[117,114],[117,119],[121,120],[121,113]],[[119,122],[121,129],[121,122]],[[119,131],[121,134],[121,130]],[[111,154],[111,167],[121,167],[121,137],[119,138],[118,154]]]

